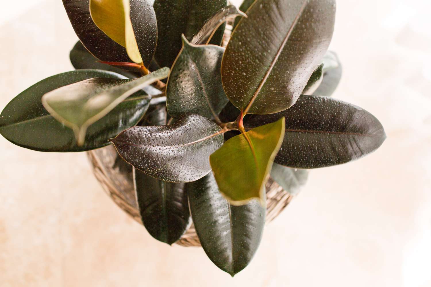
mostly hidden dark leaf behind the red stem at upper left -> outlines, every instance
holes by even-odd
[[[115,66],[107,65],[98,62],[99,59],[91,55],[90,52],[82,45],[81,41],[78,41],[69,54],[70,62],[75,69],[98,69],[105,71],[112,71],[118,74],[122,74],[129,79],[135,79],[141,77],[141,73],[126,71]]]

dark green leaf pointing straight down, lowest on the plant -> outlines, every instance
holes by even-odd
[[[217,267],[234,276],[250,263],[259,247],[265,208],[257,201],[230,205],[212,173],[187,183],[186,190],[203,250]]]

